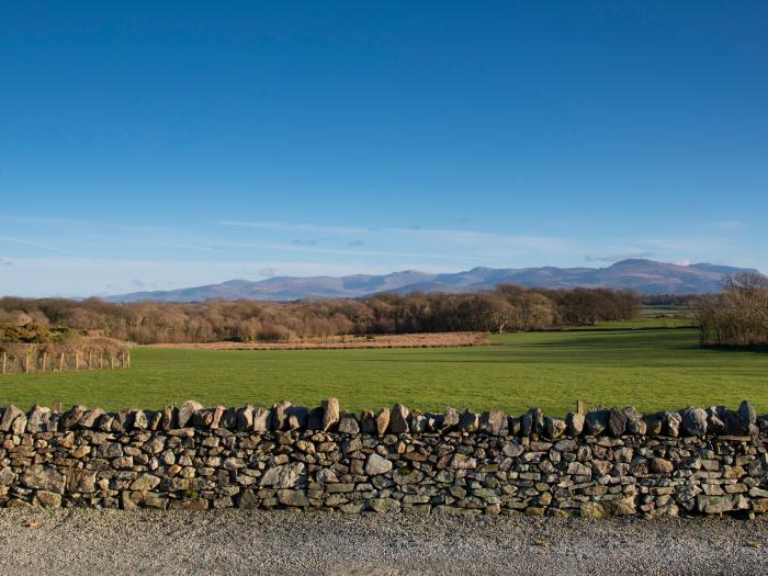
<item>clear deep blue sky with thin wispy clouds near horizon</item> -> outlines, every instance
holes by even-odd
[[[0,294],[768,271],[768,3],[0,0]]]

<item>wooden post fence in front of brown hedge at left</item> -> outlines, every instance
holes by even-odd
[[[89,343],[75,347],[0,342],[0,374],[128,368],[131,350],[127,346]]]

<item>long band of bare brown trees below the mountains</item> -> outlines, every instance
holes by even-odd
[[[138,343],[286,341],[347,334],[513,332],[626,320],[640,312],[631,291],[526,290],[476,294],[382,294],[289,303],[208,301],[112,304],[97,298],[0,298],[0,325],[37,326]]]

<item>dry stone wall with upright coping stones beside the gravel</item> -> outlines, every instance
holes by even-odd
[[[599,518],[768,512],[768,419],[204,408],[0,413],[0,507],[276,508]]]

